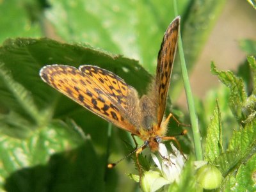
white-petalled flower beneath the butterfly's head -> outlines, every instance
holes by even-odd
[[[171,143],[173,153],[168,155],[167,149],[163,143],[159,144],[159,153],[163,157],[162,166],[159,159],[154,154],[151,154],[154,162],[161,171],[164,179],[169,180],[170,183],[179,182],[180,173],[186,161],[185,157],[180,154],[179,150]]]

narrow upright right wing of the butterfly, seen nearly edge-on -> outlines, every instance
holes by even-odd
[[[180,17],[176,17],[164,33],[157,58],[156,86],[158,88],[157,123],[160,127],[166,108],[166,97],[170,86],[173,61],[177,48]]]

